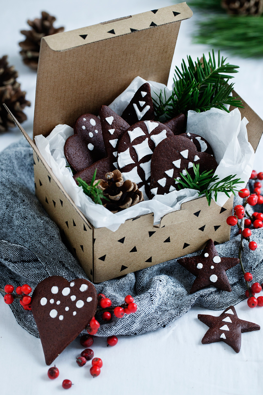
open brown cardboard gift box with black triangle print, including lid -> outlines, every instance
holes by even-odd
[[[73,127],[81,114],[97,115],[101,105],[111,103],[137,75],[166,85],[181,21],[191,16],[181,3],[42,38],[34,137],[46,137],[57,124]],[[249,121],[248,140],[256,150],[263,121],[242,102],[241,116]],[[205,197],[183,203],[180,210],[163,216],[158,227],[151,213],[126,220],[115,232],[94,228],[15,122],[33,148],[35,194],[91,281],[201,250],[208,239],[215,244],[229,240],[226,218],[232,214],[233,196],[224,207],[213,200],[209,207]]]

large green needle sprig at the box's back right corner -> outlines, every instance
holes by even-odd
[[[164,122],[180,113],[187,115],[188,110],[198,113],[210,110],[212,107],[228,111],[225,105],[242,107],[241,100],[230,96],[233,90],[233,83],[228,84],[229,79],[233,78],[233,73],[239,66],[226,63],[226,58],[220,57],[216,62],[214,50],[212,55],[209,52],[209,60],[203,55],[202,60],[192,61],[187,56],[188,65],[183,60],[180,70],[175,68],[173,78],[174,88],[170,97],[164,98],[162,92],[158,96],[158,101],[153,98],[156,119]]]

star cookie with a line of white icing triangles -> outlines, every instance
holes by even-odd
[[[259,331],[260,329],[260,326],[253,322],[240,320],[234,306],[226,308],[219,317],[198,314],[198,320],[209,326],[202,339],[202,344],[223,341],[235,352],[240,351],[241,333]]]

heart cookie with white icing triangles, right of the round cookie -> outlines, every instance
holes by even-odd
[[[194,143],[183,135],[172,135],[161,141],[151,158],[150,198],[178,190],[178,179],[188,173],[194,177],[193,166],[199,164],[199,171],[216,170],[213,156],[198,152]]]

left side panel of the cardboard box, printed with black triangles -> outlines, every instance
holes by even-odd
[[[93,281],[93,229],[83,220],[69,199],[58,187],[47,168],[34,156],[35,194],[69,242],[69,247]]]

